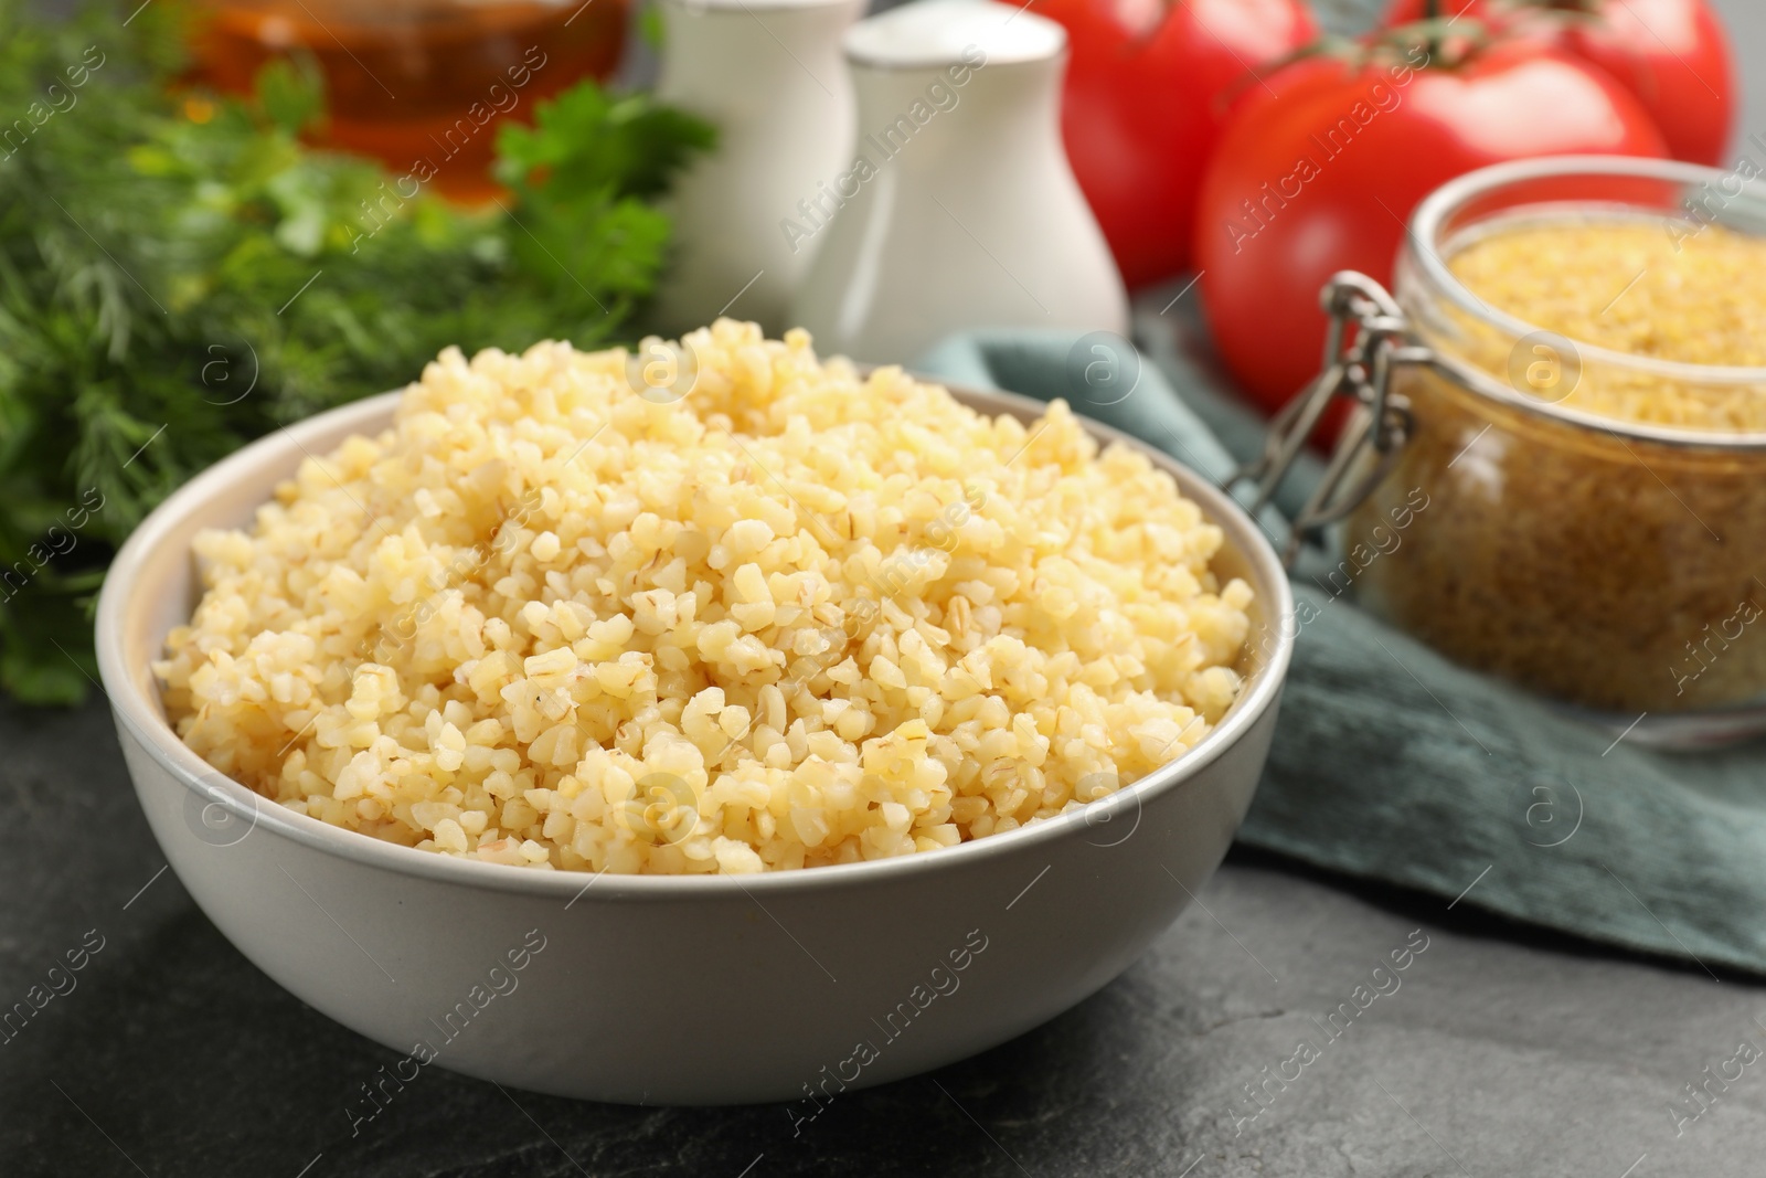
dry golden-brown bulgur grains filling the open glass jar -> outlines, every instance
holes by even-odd
[[[1572,341],[1575,380],[1552,373],[1574,383],[1552,389],[1563,408],[1738,443],[1766,431],[1766,383],[1697,369],[1669,380],[1588,348],[1766,364],[1766,240],[1662,217],[1528,214],[1480,226],[1446,263],[1489,307]],[[1413,320],[1443,355],[1529,392],[1506,328]],[[1766,602],[1766,454],[1582,426],[1432,369],[1406,369],[1395,389],[1416,431],[1346,533],[1390,547],[1356,579],[1367,608],[1459,662],[1626,721],[1766,694],[1766,641],[1718,632]],[[1392,535],[1383,525],[1413,495],[1427,509]]]

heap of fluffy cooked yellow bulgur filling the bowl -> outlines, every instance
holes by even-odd
[[[154,664],[290,811],[442,855],[761,872],[1058,818],[1194,749],[1252,602],[1171,475],[804,332],[443,353],[311,454]],[[664,396],[659,396],[664,394]]]

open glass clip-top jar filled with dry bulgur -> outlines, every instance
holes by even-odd
[[[1556,157],[1425,200],[1395,302],[1337,291],[1312,401],[1367,408],[1362,486],[1303,521],[1346,516],[1326,581],[1634,740],[1766,731],[1759,175]]]

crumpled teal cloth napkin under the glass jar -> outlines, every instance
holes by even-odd
[[[1153,304],[1157,306],[1157,304]],[[1157,327],[1150,327],[1157,323]],[[1197,360],[1194,320],[1139,316],[1132,394],[1088,397],[1070,360],[1095,341],[957,336],[915,367],[954,383],[1067,397],[1220,477],[1261,422]],[[1081,366],[1083,367],[1083,366]],[[1317,477],[1298,470],[1277,507]],[[1284,535],[1280,517],[1263,526]],[[1460,669],[1294,576],[1302,627],[1275,747],[1240,839],[1579,938],[1766,973],[1766,754],[1664,754]],[[1302,616],[1305,616],[1302,609]],[[1715,977],[1715,975],[1713,975]]]

